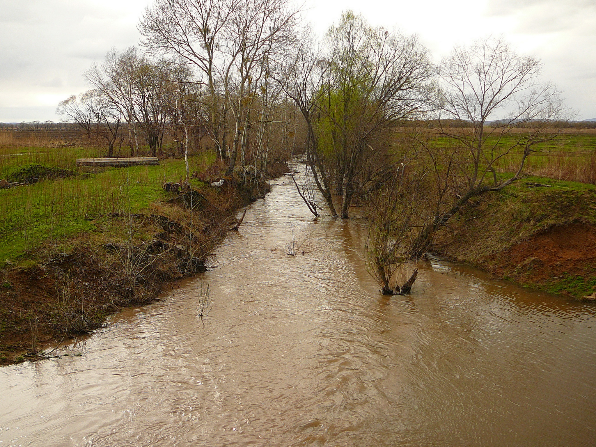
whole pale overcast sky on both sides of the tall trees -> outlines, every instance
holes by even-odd
[[[0,0],[0,122],[58,121],[58,101],[85,91],[82,72],[112,47],[136,45],[151,0]],[[581,119],[596,118],[596,0],[307,0],[324,33],[343,10],[417,33],[436,60],[454,44],[503,35],[538,56],[544,79]]]

